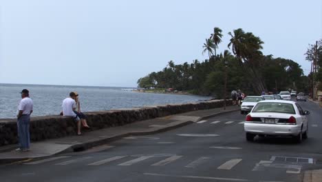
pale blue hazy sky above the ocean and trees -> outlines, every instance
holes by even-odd
[[[305,74],[309,43],[322,38],[321,0],[0,0],[0,83],[136,87],[150,72],[203,61],[214,27],[242,28],[264,54]]]

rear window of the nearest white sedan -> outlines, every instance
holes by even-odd
[[[253,112],[279,112],[295,114],[294,107],[291,103],[257,103]]]

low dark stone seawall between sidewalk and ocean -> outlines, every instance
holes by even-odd
[[[227,105],[232,102],[227,101]],[[220,108],[224,101],[204,101],[201,103],[184,103],[158,105],[144,108],[106,110],[100,112],[86,112],[90,130],[100,130],[118,125],[125,125],[136,121],[143,121],[171,114],[180,114],[194,110],[208,110]],[[90,131],[89,130],[89,131]],[[54,139],[76,134],[76,122],[72,118],[59,115],[46,117],[32,117],[30,123],[30,138],[32,141]],[[0,119],[0,146],[18,142],[16,119]]]

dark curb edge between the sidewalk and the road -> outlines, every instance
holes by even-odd
[[[215,116],[220,115],[220,114],[226,114],[226,113],[229,113],[229,112],[235,112],[237,110],[239,110],[239,109],[225,110],[225,111],[222,111],[222,112],[209,114],[209,115],[206,115],[204,117],[200,117],[200,119],[197,119],[197,121],[201,121],[203,119],[208,119],[210,117],[215,117]],[[118,135],[111,136],[111,137],[108,137],[108,138],[105,138],[105,139],[99,139],[97,141],[90,141],[90,142],[87,142],[87,143],[75,144],[75,145],[70,146],[69,148],[66,148],[65,150],[63,150],[61,152],[57,152],[55,154],[51,154],[51,155],[47,155],[47,156],[34,157],[34,158],[20,158],[20,159],[0,159],[0,164],[19,163],[19,162],[22,163],[23,161],[29,160],[29,159],[46,159],[47,157],[54,156],[56,154],[64,154],[64,153],[69,153],[69,152],[81,152],[81,151],[87,150],[89,148],[94,148],[94,147],[96,147],[98,145],[103,145],[103,144],[109,143],[111,141],[116,141],[118,139],[122,139],[122,138],[127,137],[127,136],[140,136],[140,135],[157,134],[157,133],[160,133],[160,132],[167,132],[167,131],[173,130],[175,128],[180,128],[182,126],[189,125],[189,124],[192,124],[192,123],[195,123],[195,122],[193,122],[193,121],[178,121],[178,123],[175,123],[174,125],[165,126],[163,128],[151,129],[151,130],[146,130],[146,131],[142,131],[142,132],[128,132],[128,133],[124,133],[124,134],[118,134]]]

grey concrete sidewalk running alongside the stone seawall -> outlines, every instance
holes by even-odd
[[[0,163],[12,163],[27,159],[45,158],[54,154],[64,152],[78,152],[87,150],[97,145],[121,139],[125,136],[144,135],[164,132],[173,128],[178,128],[189,123],[194,123],[202,119],[213,117],[226,112],[239,110],[237,106],[215,108],[211,110],[197,110],[168,117],[138,121],[127,125],[85,132],[83,136],[67,136],[58,139],[50,139],[31,144],[29,152],[16,152],[17,145],[6,145],[0,147]]]

